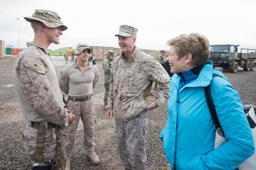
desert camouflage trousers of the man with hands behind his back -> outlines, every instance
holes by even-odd
[[[75,115],[74,124],[67,126],[67,142],[66,153],[72,154],[74,147],[74,140],[78,123],[81,120],[84,126],[84,148],[86,151],[92,151],[95,148],[94,143],[94,128],[95,128],[95,111],[93,99],[84,102],[68,101],[67,108]]]

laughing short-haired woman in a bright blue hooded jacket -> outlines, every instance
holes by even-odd
[[[209,41],[198,33],[170,39],[169,117],[160,139],[172,170],[235,170],[254,153],[253,137],[242,102],[222,72],[207,61]],[[212,80],[212,83],[211,83]],[[204,87],[211,95],[228,141],[214,150],[215,129]]]

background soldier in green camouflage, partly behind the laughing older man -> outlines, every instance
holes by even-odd
[[[105,75],[105,77],[104,77],[104,80],[105,80],[105,83],[104,83],[104,86],[105,86],[104,110],[107,110],[106,106],[107,106],[107,98],[109,97],[110,71],[111,71],[111,68],[112,68],[112,63],[113,63],[113,60],[114,60],[114,56],[116,56],[114,54],[114,51],[108,50],[107,54],[106,54],[106,58],[102,63],[102,67],[103,67],[104,75]]]

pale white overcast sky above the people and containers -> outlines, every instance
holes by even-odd
[[[256,49],[256,0],[0,0],[0,7],[0,40],[6,46],[18,47],[18,26],[19,48],[33,41],[23,17],[47,9],[68,27],[60,44],[49,46],[52,50],[78,43],[118,48],[114,35],[122,24],[138,29],[140,49],[169,50],[169,39],[192,32],[205,35],[210,45]]]

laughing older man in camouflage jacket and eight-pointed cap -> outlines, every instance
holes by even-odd
[[[146,170],[147,110],[161,106],[169,96],[169,76],[153,56],[135,45],[137,30],[121,25],[115,35],[122,54],[113,61],[106,106],[107,118],[115,116],[117,150],[125,170]],[[159,88],[149,103],[153,82]]]

